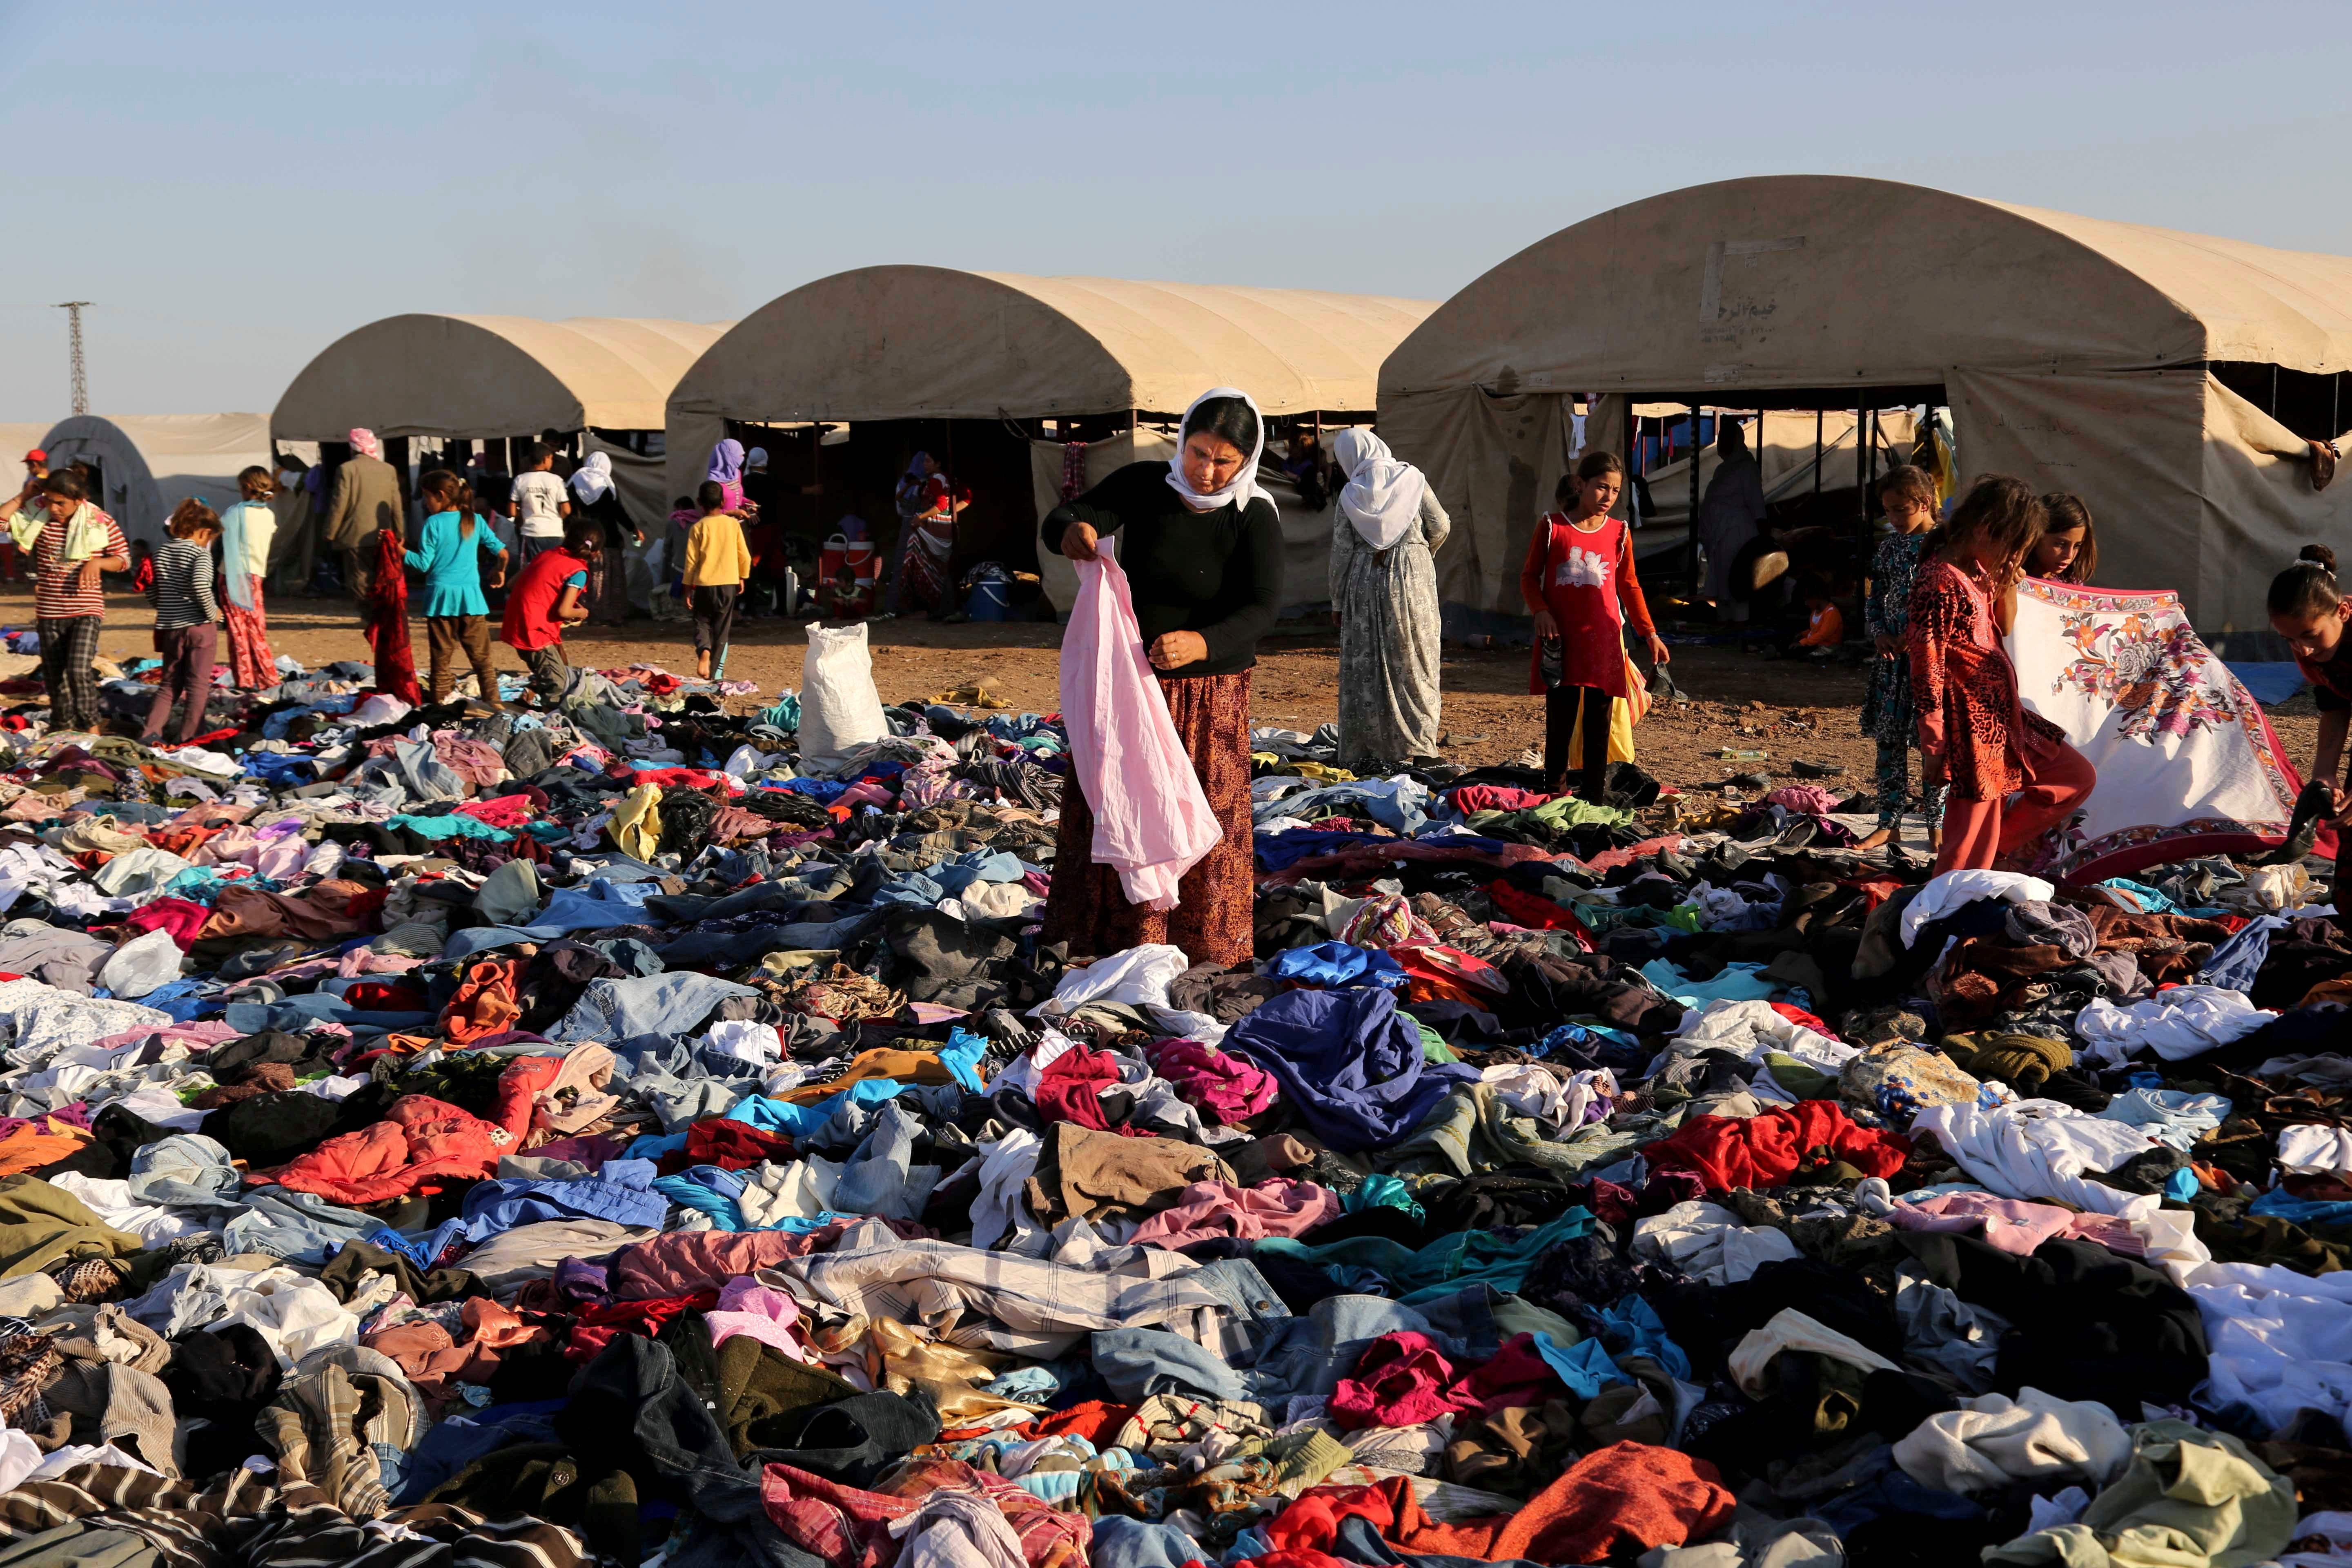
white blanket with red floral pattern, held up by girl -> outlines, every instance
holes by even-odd
[[[2303,780],[2178,595],[2027,578],[2009,656],[2025,705],[2098,769],[2051,870],[2096,882],[2286,835]]]

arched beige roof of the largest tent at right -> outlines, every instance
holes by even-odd
[[[1381,397],[1931,386],[1950,367],[2352,367],[2352,259],[1849,176],[1668,190],[1439,306]]]

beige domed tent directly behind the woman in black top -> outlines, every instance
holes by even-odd
[[[854,430],[861,421],[1141,414],[1148,423],[1181,414],[1211,386],[1247,390],[1268,416],[1362,416],[1374,407],[1381,360],[1432,308],[1308,289],[934,266],[835,273],[753,310],[680,376],[668,411],[670,491],[694,489],[727,421],[847,421]],[[1058,482],[1058,444],[1042,447],[1051,451],[1037,458],[1040,470]],[[1103,468],[1115,451],[1157,449],[1150,430],[1122,433],[1089,447],[1087,468]],[[1284,515],[1301,536],[1291,555],[1305,559],[1329,536],[1331,515],[1294,512]],[[1040,564],[1056,597],[1063,564]]]

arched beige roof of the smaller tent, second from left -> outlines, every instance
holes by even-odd
[[[390,315],[329,343],[278,400],[280,437],[494,440],[661,430],[670,388],[731,322]]]

